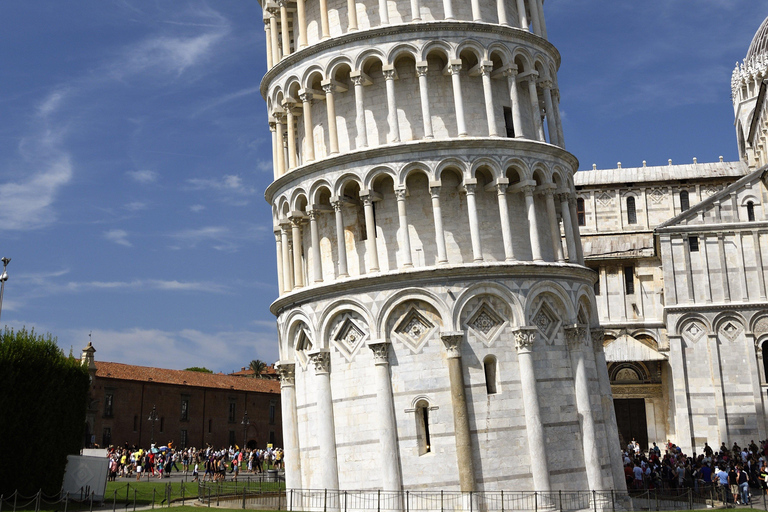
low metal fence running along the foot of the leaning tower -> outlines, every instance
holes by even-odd
[[[203,484],[199,487],[198,500],[209,507],[307,512],[653,512],[706,509],[733,501],[732,497],[720,494],[715,488],[701,491],[680,489],[630,492],[386,492],[329,489],[259,492],[247,488],[235,491],[226,486]],[[761,508],[765,509],[765,506]]]

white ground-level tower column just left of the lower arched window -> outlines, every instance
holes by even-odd
[[[402,491],[400,475],[400,449],[397,443],[395,400],[389,377],[389,342],[373,340],[368,348],[373,351],[374,379],[376,381],[376,423],[379,428],[379,455],[381,456],[381,488],[385,492]]]

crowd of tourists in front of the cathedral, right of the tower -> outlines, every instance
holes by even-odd
[[[627,445],[623,457],[628,489],[714,490],[723,501],[743,505],[750,504],[750,489],[766,492],[768,440],[744,447],[733,443],[730,448],[723,443],[716,450],[704,443],[698,455],[687,455],[668,441],[663,451],[653,443],[644,452],[634,439]]]

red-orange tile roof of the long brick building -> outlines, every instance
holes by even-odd
[[[261,393],[280,393],[280,382],[271,379],[244,379],[186,370],[168,370],[149,366],[133,366],[122,363],[96,361],[96,378],[158,382],[178,386],[234,389]]]

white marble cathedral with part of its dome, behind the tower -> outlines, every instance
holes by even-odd
[[[732,76],[739,161],[575,175],[623,444],[768,437],[765,78],[768,20]]]

